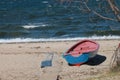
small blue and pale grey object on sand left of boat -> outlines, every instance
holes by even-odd
[[[46,58],[41,62],[41,68],[52,66],[53,53],[47,53]]]

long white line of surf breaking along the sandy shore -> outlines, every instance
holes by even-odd
[[[15,39],[0,39],[0,43],[19,43],[19,42],[46,42],[46,41],[74,41],[74,40],[84,40],[84,39],[120,39],[120,36],[92,36],[92,37],[76,37],[76,38],[15,38]]]

